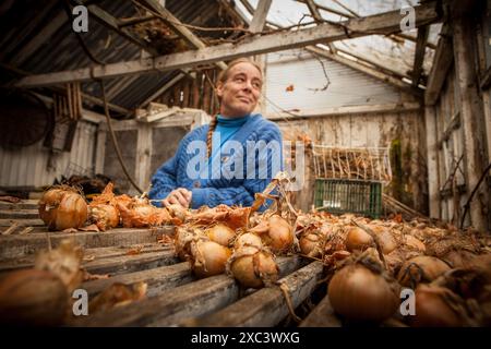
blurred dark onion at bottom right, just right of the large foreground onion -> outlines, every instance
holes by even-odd
[[[415,327],[457,327],[463,322],[448,305],[448,296],[456,298],[446,288],[418,285],[415,291],[415,315],[408,316],[409,324]]]

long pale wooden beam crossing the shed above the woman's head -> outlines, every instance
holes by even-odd
[[[415,13],[416,26],[428,25],[429,23],[440,21],[439,14],[434,9],[434,3],[415,7]],[[348,36],[361,37],[372,35],[374,33],[394,33],[400,31],[400,20],[402,14],[399,11],[391,11],[363,19],[352,19],[343,22],[340,25],[323,23],[312,28],[296,32],[279,32],[259,37],[249,37],[243,39],[240,45],[227,43],[214,47],[202,48],[195,51],[172,53],[156,58],[106,65],[94,65],[92,68],[82,68],[72,71],[26,76],[21,79],[15,85],[17,87],[35,87],[73,81],[122,76],[156,70],[168,71],[244,56],[304,47],[318,43],[335,41],[344,39]]]

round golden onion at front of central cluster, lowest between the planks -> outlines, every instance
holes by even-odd
[[[229,261],[229,270],[246,288],[261,288],[278,279],[274,255],[254,246],[236,250]]]

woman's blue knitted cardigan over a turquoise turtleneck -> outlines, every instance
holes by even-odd
[[[251,115],[246,123],[237,131],[230,141],[239,142],[242,145],[242,152],[246,152],[248,141],[264,141],[266,144],[271,141],[276,141],[279,144],[279,161],[280,164],[273,165],[273,160],[277,157],[272,156],[271,152],[265,152],[263,155],[266,159],[255,156],[255,174],[254,178],[248,178],[246,153],[243,157],[243,176],[241,178],[227,178],[224,176],[226,169],[224,165],[227,161],[233,161],[233,157],[238,154],[230,154],[230,157],[221,157],[221,165],[219,165],[221,176],[208,176],[207,179],[190,178],[188,176],[188,164],[195,157],[195,154],[188,149],[193,141],[202,141],[206,143],[206,135],[208,132],[208,124],[194,129],[189,132],[179,143],[178,149],[173,157],[160,166],[152,178],[152,188],[148,193],[149,198],[163,200],[176,188],[185,188],[192,192],[191,208],[199,208],[203,205],[209,207],[219,204],[251,206],[254,202],[254,193],[262,192],[271,182],[276,173],[272,173],[275,168],[283,169],[283,143],[282,133],[278,127],[268,120],[265,120],[261,115]],[[264,163],[266,160],[266,163]],[[260,164],[267,165],[267,173],[258,176]],[[264,169],[263,169],[264,170]],[[217,178],[218,177],[218,178]],[[240,177],[240,176],[238,176]],[[154,202],[156,206],[160,206],[159,202]],[[266,202],[260,210],[264,210],[271,202]]]

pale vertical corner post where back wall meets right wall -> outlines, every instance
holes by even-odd
[[[430,217],[441,218],[436,113],[434,112],[433,107],[424,108],[424,124],[427,129],[427,167]]]

